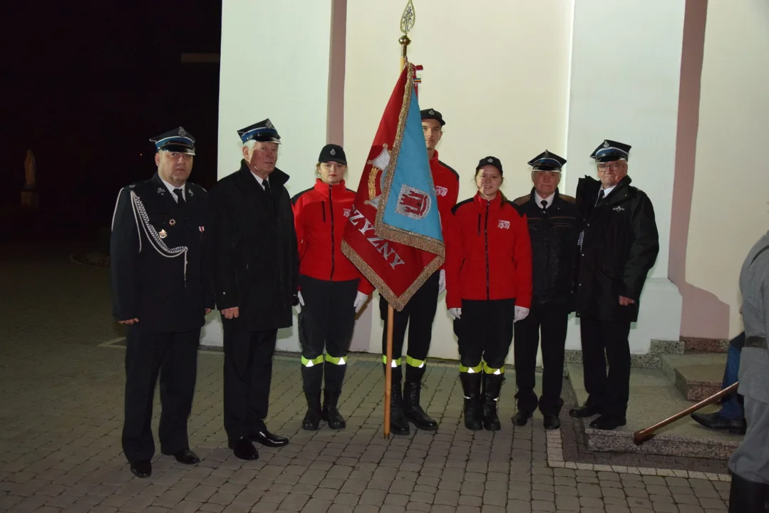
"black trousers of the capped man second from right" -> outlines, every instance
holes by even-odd
[[[564,305],[537,305],[529,315],[515,323],[515,385],[518,386],[518,409],[529,414],[539,405],[543,415],[558,415],[564,401],[564,351],[569,312]],[[542,340],[542,395],[534,392],[534,369],[537,349]]]

